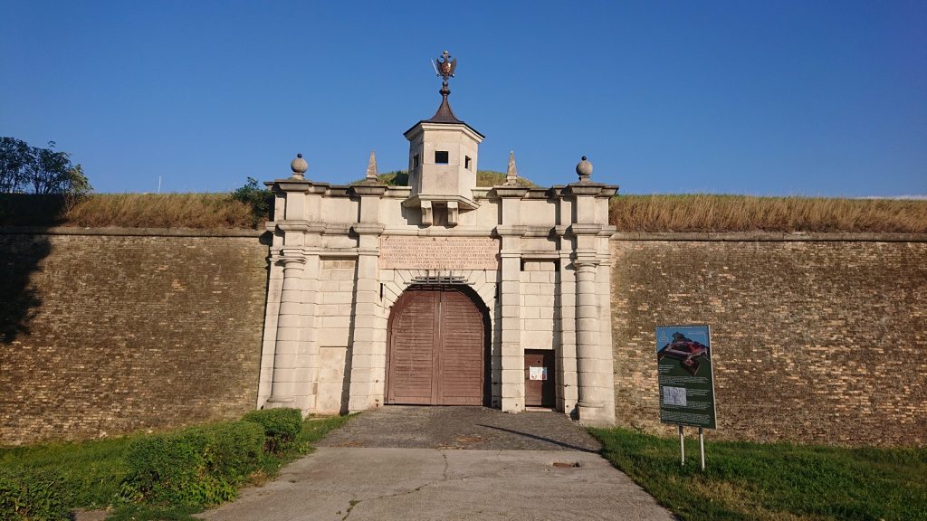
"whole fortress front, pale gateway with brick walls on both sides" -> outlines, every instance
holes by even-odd
[[[712,438],[927,443],[927,235],[616,230],[585,159],[476,186],[440,94],[408,186],[298,156],[267,230],[0,226],[0,444],[404,403],[672,435],[663,324],[711,324]]]

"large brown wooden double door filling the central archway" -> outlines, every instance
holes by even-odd
[[[483,405],[488,315],[469,287],[412,286],[389,313],[387,403]]]

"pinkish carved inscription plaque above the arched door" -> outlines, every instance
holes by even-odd
[[[380,237],[386,270],[498,270],[499,240],[492,237]]]

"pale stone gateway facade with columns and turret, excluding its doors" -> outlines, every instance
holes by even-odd
[[[316,183],[296,166],[294,177],[268,183],[276,220],[258,406],[384,405],[393,303],[413,285],[454,284],[468,286],[488,315],[487,405],[524,411],[525,349],[548,349],[553,407],[613,424],[616,187],[588,176],[551,188],[476,187],[482,135],[455,118],[434,120],[406,133],[412,186]]]

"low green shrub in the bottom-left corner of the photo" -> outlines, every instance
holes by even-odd
[[[0,469],[0,519],[67,519],[63,481],[52,471]]]

